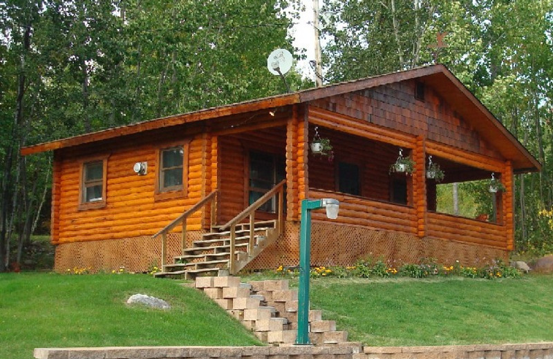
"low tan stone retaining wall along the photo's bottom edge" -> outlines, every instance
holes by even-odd
[[[37,348],[37,359],[553,359],[553,342],[445,347]]]

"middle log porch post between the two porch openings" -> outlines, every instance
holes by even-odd
[[[421,238],[427,233],[426,152],[424,137],[418,136],[413,149],[413,206],[417,213],[417,235]]]

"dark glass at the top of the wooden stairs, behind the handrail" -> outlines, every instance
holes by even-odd
[[[285,162],[282,157],[263,152],[250,152],[250,191],[248,203],[252,204],[268,193],[286,177]],[[259,209],[274,212],[277,210],[275,198]]]

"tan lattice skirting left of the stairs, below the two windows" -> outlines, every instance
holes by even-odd
[[[189,231],[187,245],[200,240],[205,231]],[[180,233],[167,235],[167,263],[181,253]],[[129,272],[144,272],[161,264],[161,237],[150,236],[121,240],[97,240],[58,244],[55,251],[54,270],[60,273],[68,269],[88,269],[91,272],[113,271],[123,268]]]

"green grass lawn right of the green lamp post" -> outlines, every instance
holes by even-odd
[[[311,305],[372,346],[553,341],[553,276],[316,279]]]

